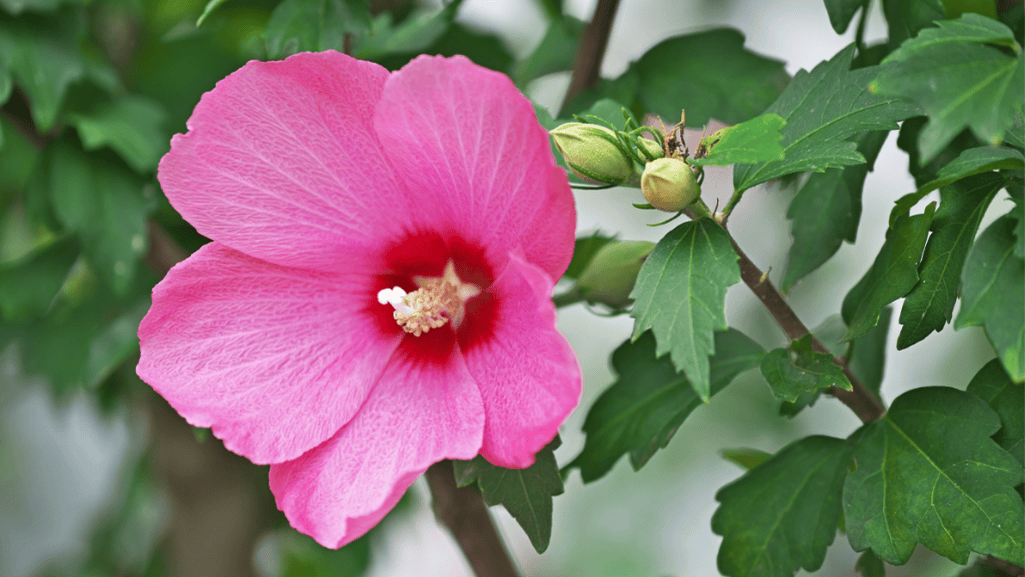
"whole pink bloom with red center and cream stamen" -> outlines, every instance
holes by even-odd
[[[292,527],[338,547],[432,463],[533,463],[580,398],[550,300],[575,211],[506,77],[296,54],[188,128],[160,183],[213,242],[154,289],[138,374],[270,464]]]

